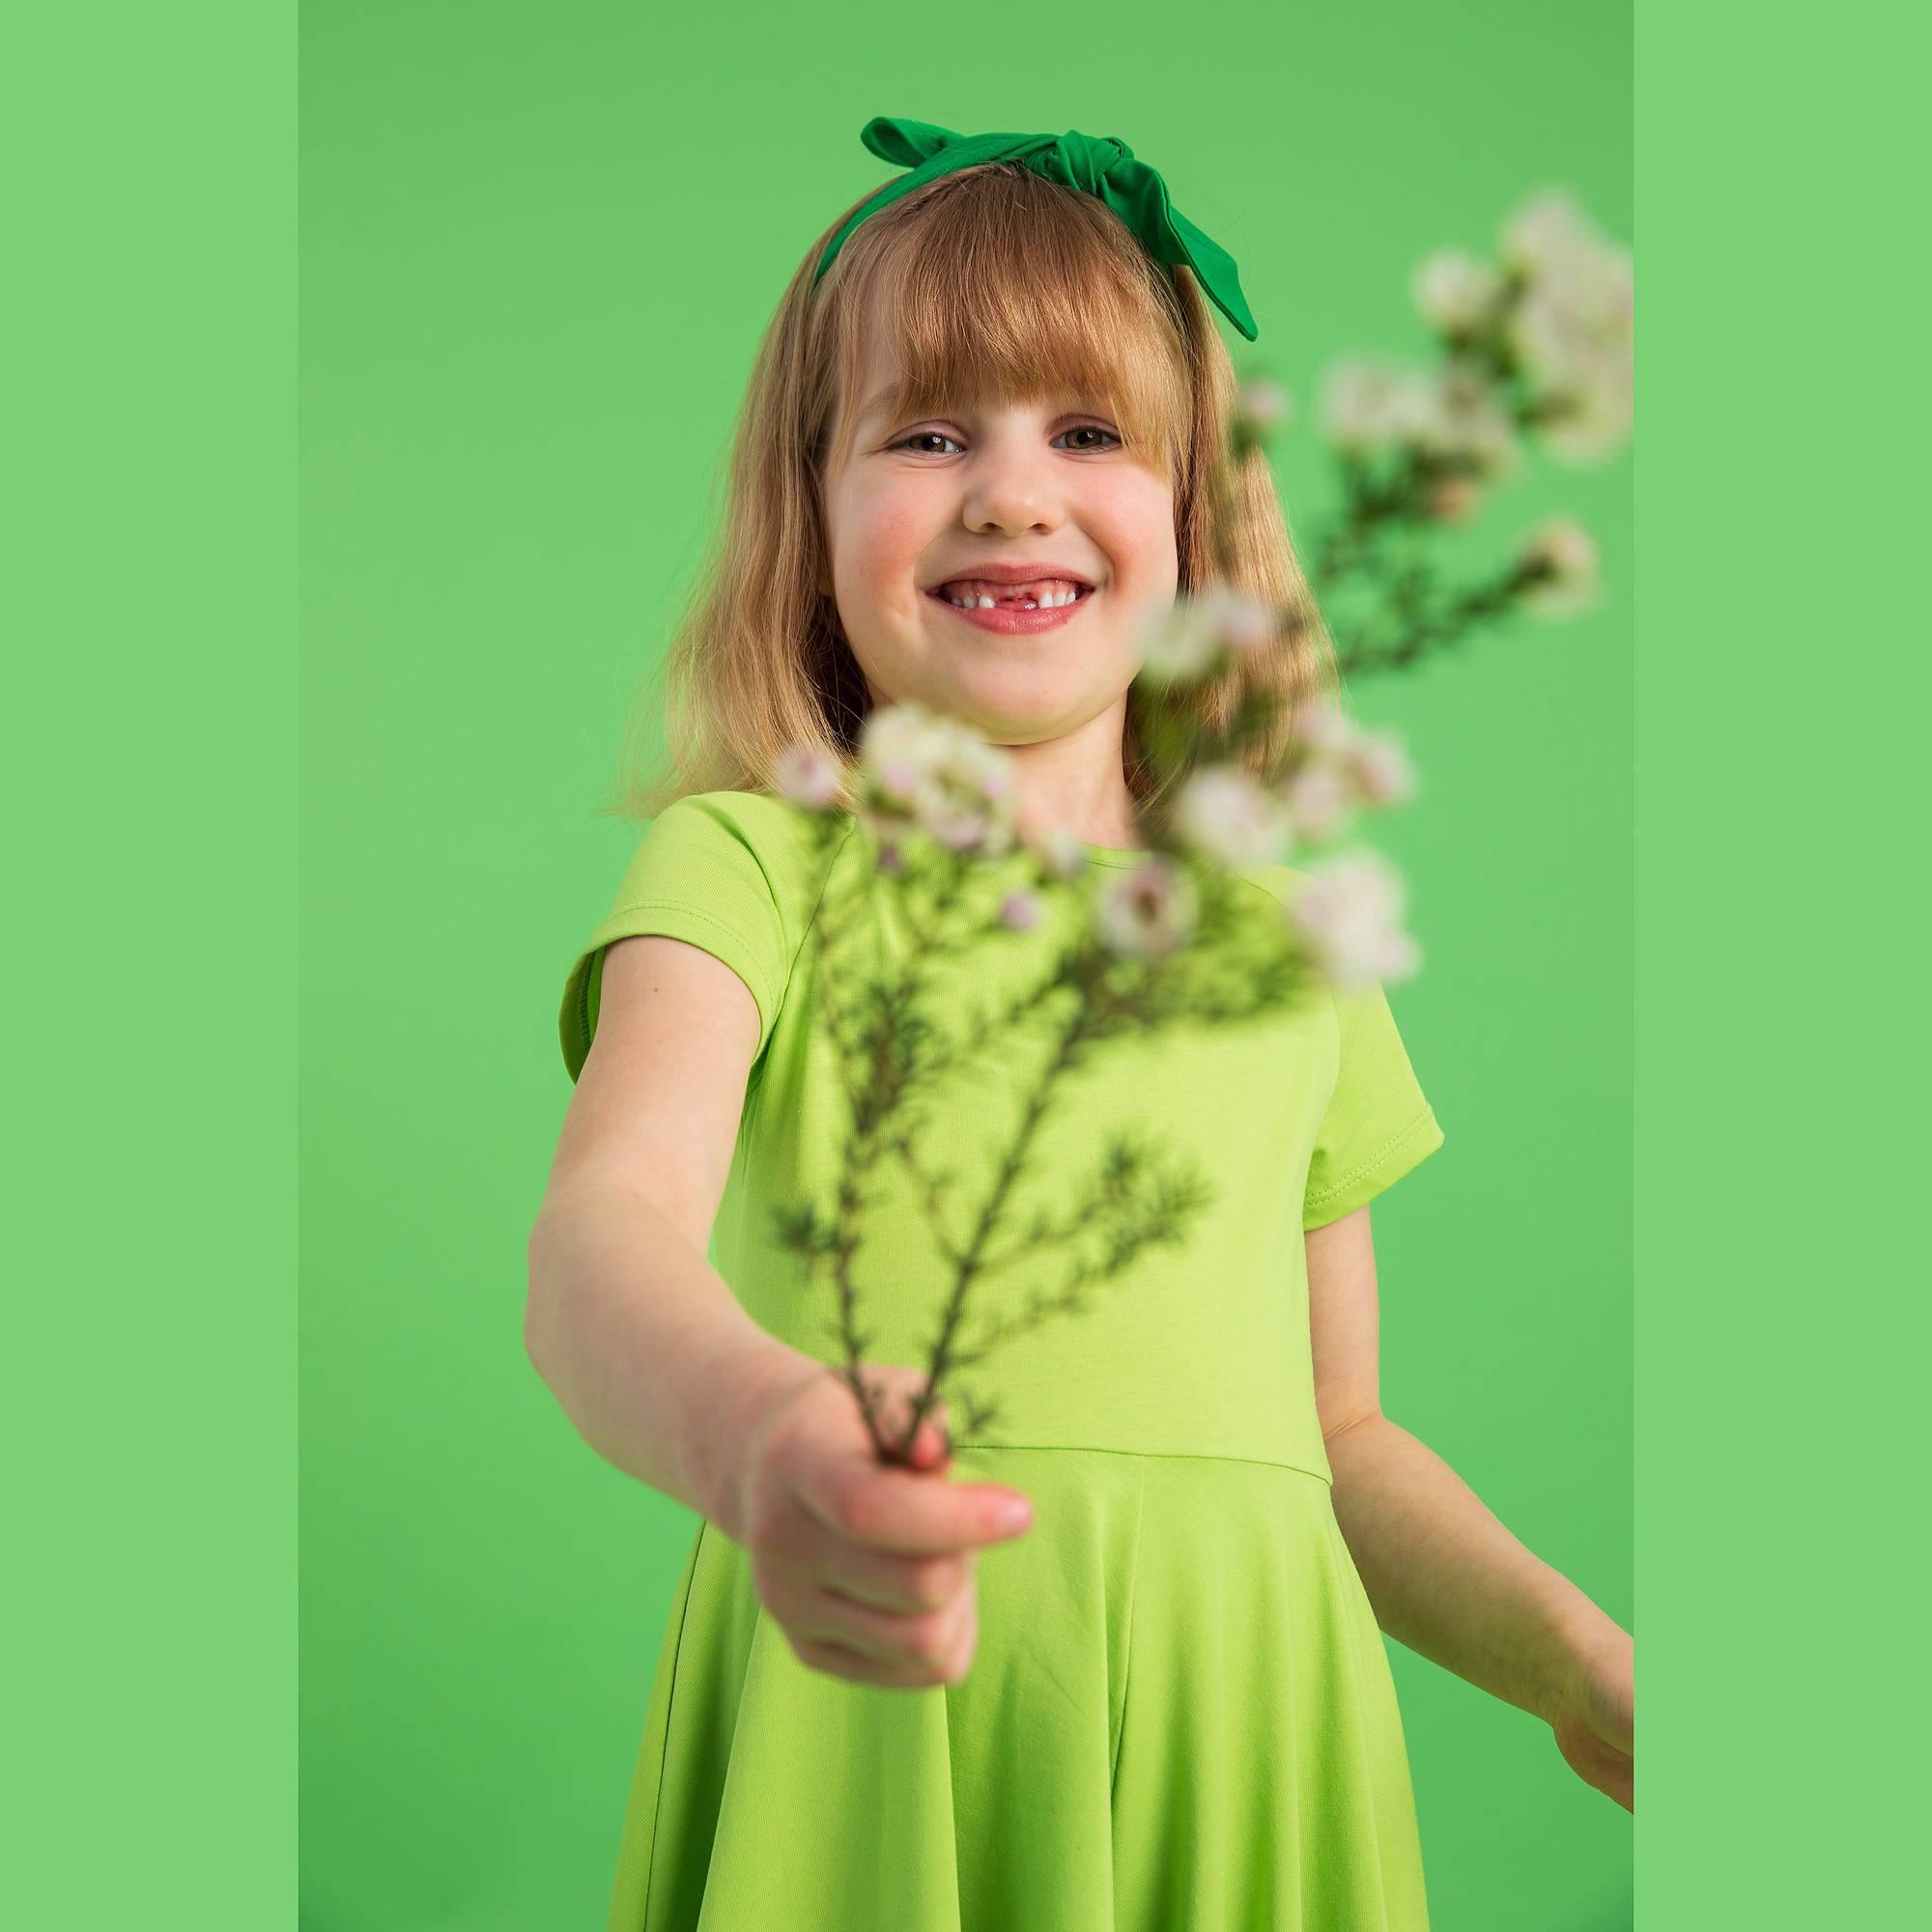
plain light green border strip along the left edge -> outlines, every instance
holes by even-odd
[[[296,1920],[296,10],[15,10],[0,75],[0,1922],[267,1932]]]

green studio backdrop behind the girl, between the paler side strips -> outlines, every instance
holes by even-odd
[[[696,562],[757,332],[891,170],[871,114],[1119,133],[1240,263],[1329,487],[1316,379],[1422,354],[1408,270],[1571,185],[1631,222],[1623,4],[1138,0],[999,35],[330,0],[301,41],[301,1922],[601,1926],[694,1519],[572,1434],[522,1347],[570,1086],[562,978],[636,827],[593,815]],[[976,15],[981,23],[987,17]],[[784,155],[773,168],[771,156]],[[1617,1621],[1631,1596],[1631,460],[1536,462],[1602,607],[1350,705],[1406,734],[1374,823],[1424,968],[1391,991],[1445,1148],[1376,1208],[1383,1406]],[[1631,1820],[1548,1727],[1389,1644],[1439,1932],[1631,1920]]]

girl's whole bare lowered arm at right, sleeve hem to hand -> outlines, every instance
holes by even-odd
[[[1542,1718],[1586,1783],[1634,1810],[1634,1640],[1381,1412],[1368,1206],[1310,1229],[1316,1408],[1335,1520],[1397,1642]]]

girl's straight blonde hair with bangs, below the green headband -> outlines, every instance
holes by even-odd
[[[1277,771],[1296,707],[1335,694],[1335,651],[1265,456],[1229,458],[1236,377],[1192,270],[1169,274],[1097,197],[989,162],[867,216],[813,286],[825,243],[856,207],[798,265],[759,344],[724,514],[670,647],[634,701],[618,788],[599,815],[651,819],[692,792],[775,790],[788,746],[831,759],[844,777],[840,804],[854,804],[871,697],[819,587],[831,582],[821,479],[842,462],[864,402],[871,313],[898,328],[902,413],[939,413],[962,396],[1103,402],[1126,448],[1175,491],[1179,591],[1225,585],[1291,612],[1275,645],[1188,697],[1204,724],[1225,726],[1244,696],[1271,696],[1275,723],[1240,765]],[[1136,686],[1122,775],[1144,811],[1161,782],[1140,757],[1138,703]],[[667,759],[645,769],[659,719]]]

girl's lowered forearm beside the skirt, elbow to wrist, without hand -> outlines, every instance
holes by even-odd
[[[1397,1642],[1538,1718],[1592,1646],[1629,1642],[1408,1430],[1368,1416],[1325,1447],[1335,1519]]]

